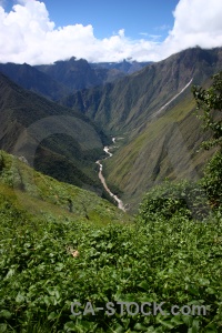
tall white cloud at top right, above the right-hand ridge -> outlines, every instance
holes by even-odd
[[[180,0],[174,26],[162,44],[168,54],[182,49],[222,47],[222,1]]]

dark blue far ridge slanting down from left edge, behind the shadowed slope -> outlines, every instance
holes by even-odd
[[[24,89],[37,92],[51,100],[59,100],[71,93],[68,87],[27,63],[0,63],[0,72]]]

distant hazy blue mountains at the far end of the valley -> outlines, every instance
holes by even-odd
[[[27,63],[0,63],[0,72],[24,89],[51,100],[60,100],[77,90],[102,85],[145,67],[147,62],[89,63],[72,57],[68,61],[31,67]]]

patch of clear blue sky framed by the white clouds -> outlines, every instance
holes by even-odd
[[[44,0],[57,27],[92,24],[97,38],[110,37],[124,29],[125,36],[167,37],[173,28],[172,11],[178,0]],[[144,33],[144,34],[141,34]]]

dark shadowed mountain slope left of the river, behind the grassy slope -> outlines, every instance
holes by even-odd
[[[101,192],[94,161],[105,135],[83,114],[23,90],[0,74],[0,148],[38,170]]]

